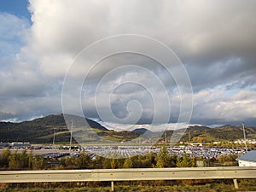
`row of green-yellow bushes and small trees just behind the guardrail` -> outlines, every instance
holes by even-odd
[[[217,163],[223,164],[236,161],[236,155],[221,156]],[[26,150],[11,153],[6,148],[0,154],[1,170],[44,170],[44,169],[117,169],[117,168],[162,168],[162,167],[193,167],[196,166],[195,158],[184,153],[183,156],[169,154],[166,147],[162,147],[158,154],[131,156],[126,159],[108,159],[96,156],[91,159],[89,154],[81,153],[79,157],[43,158],[41,155],[33,155]]]

